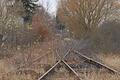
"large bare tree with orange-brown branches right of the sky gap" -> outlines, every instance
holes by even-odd
[[[112,0],[60,0],[57,15],[76,37],[96,31],[112,8]]]

